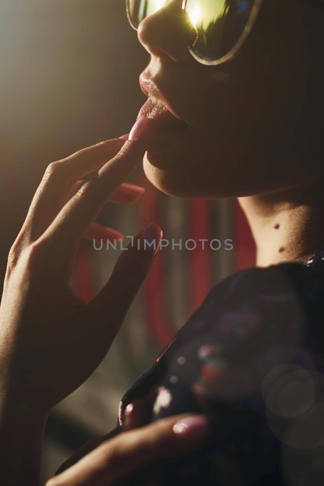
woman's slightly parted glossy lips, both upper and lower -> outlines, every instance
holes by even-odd
[[[167,101],[162,99],[157,87],[148,81],[144,82],[142,78],[140,84],[148,99],[140,109],[137,120],[141,117],[150,120],[147,152],[161,154],[183,140],[188,124],[171,113]]]

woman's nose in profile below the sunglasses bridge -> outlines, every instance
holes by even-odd
[[[181,0],[166,0],[155,14],[146,17],[138,26],[138,38],[152,56],[167,55],[180,64],[194,59],[188,50],[192,24],[182,10]]]

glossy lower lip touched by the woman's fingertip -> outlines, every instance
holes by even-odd
[[[148,118],[150,137],[146,147],[150,154],[162,154],[174,145],[181,143],[187,135],[188,124],[181,121],[165,107],[155,104],[151,98],[140,109],[137,120]]]

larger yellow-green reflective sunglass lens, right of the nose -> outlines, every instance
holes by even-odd
[[[196,31],[191,51],[203,61],[222,60],[249,30],[253,10],[260,0],[186,0]]]

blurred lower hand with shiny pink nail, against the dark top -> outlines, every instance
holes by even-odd
[[[46,486],[110,486],[156,460],[199,449],[208,436],[204,416],[163,418],[102,442]]]

